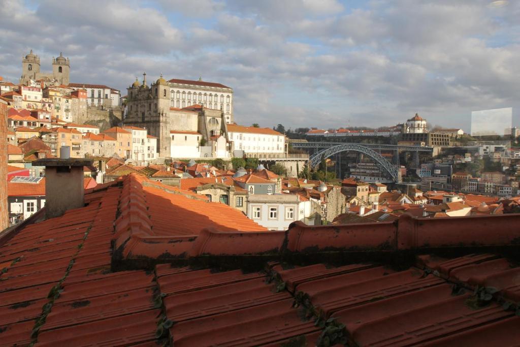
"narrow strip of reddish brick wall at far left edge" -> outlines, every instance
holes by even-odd
[[[7,210],[7,102],[0,99],[0,231],[9,226]]]

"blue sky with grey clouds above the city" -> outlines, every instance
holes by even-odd
[[[520,109],[520,1],[0,0],[0,75],[33,49],[71,82],[124,90],[146,71],[219,82],[235,119],[286,127],[394,125],[419,112],[470,130]]]

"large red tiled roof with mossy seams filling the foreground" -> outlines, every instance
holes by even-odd
[[[220,232],[253,222],[177,193],[131,175],[89,189],[84,208],[0,236],[2,342],[520,344],[520,267],[482,253],[517,254],[519,215]],[[471,255],[427,254],[438,248]],[[352,261],[400,251],[410,253],[396,268]],[[343,263],[322,263],[334,255]]]

